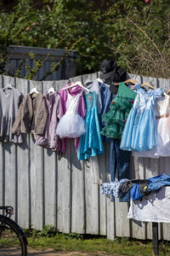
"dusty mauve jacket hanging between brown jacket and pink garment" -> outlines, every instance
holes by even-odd
[[[38,135],[36,144],[43,148],[58,150],[59,137],[56,135],[56,128],[63,115],[60,95],[57,91],[54,93],[45,93],[45,101],[48,108],[48,119],[43,136]]]

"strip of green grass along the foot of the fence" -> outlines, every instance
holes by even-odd
[[[93,255],[152,255],[151,241],[135,241],[129,238],[116,237],[115,241],[110,241],[105,237],[87,236],[77,233],[60,234],[54,233],[54,228],[46,226],[42,231],[25,230],[29,246],[37,250],[54,248],[54,251],[91,253]],[[170,255],[168,242],[161,241],[159,255]]]

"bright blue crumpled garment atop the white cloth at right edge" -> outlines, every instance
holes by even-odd
[[[163,186],[170,186],[170,175],[161,174],[158,176],[148,178],[150,184],[148,185],[148,191],[156,191]]]

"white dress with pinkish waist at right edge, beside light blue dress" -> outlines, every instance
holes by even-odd
[[[150,150],[136,151],[138,157],[158,158],[170,156],[170,96],[164,95],[156,99],[156,147]]]

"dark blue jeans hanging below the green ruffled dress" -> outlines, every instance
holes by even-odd
[[[130,175],[130,152],[120,149],[120,139],[111,139],[110,151],[110,172],[111,182],[115,181],[116,167],[118,172],[118,180],[128,178]],[[119,198],[119,201],[129,201],[129,192]]]

